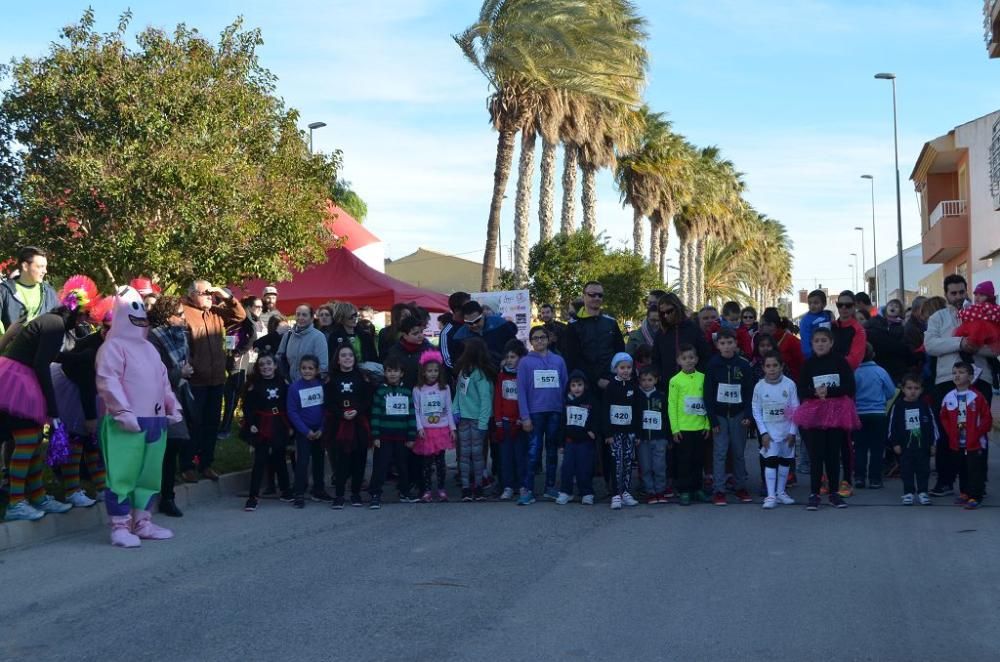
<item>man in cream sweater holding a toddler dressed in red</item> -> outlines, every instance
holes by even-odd
[[[968,338],[959,338],[954,335],[955,328],[960,321],[958,311],[965,305],[968,294],[968,284],[965,279],[958,274],[951,274],[944,279],[944,297],[947,301],[947,308],[939,310],[927,320],[927,331],[924,333],[924,349],[928,356],[937,360],[937,368],[934,375],[934,408],[941,410],[941,402],[944,396],[954,388],[952,383],[952,369],[955,364],[963,360],[962,355],[966,355],[964,360],[974,363],[975,384],[977,391],[983,394],[986,401],[993,402],[993,371],[990,367],[990,358],[996,355],[988,347],[978,347],[972,344]],[[955,476],[958,472],[958,458],[955,452],[948,445],[948,439],[941,431],[938,440],[937,459],[937,484],[930,491],[931,496],[948,496],[954,493]]]

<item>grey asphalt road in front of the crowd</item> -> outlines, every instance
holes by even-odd
[[[816,513],[226,498],[138,550],[101,531],[0,554],[0,659],[1000,659],[1000,509],[899,496],[889,481]]]

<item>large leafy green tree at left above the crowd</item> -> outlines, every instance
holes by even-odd
[[[324,259],[336,160],[310,156],[298,113],[237,20],[216,44],[178,25],[130,48],[88,10],[39,58],[6,68],[0,100],[0,251],[22,242],[63,273],[164,283],[281,279]],[[94,273],[101,270],[101,273]]]

